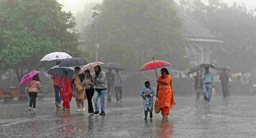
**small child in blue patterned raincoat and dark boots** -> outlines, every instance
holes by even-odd
[[[140,96],[143,100],[145,118],[147,119],[148,112],[150,112],[150,118],[153,117],[153,97],[155,96],[154,90],[150,87],[150,81],[145,81],[145,87],[141,90]]]

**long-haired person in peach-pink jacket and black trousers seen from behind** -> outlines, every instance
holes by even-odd
[[[35,75],[31,81],[28,82],[28,95],[30,98],[29,101],[29,110],[32,109],[33,104],[33,111],[36,111],[36,97],[37,91],[41,88],[41,82],[39,79],[39,75]]]

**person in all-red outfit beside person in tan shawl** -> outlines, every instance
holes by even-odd
[[[63,72],[63,78],[61,80],[61,88],[60,93],[63,99],[63,110],[69,111],[70,105],[69,102],[71,101],[71,98],[73,96],[73,84],[72,79],[68,77],[68,72]]]

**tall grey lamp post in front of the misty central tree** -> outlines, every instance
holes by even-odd
[[[97,15],[99,14],[98,11],[92,10],[92,18],[94,19],[94,44],[95,44],[95,62],[98,61],[98,48],[99,48],[99,43],[98,43],[98,36],[97,36]]]

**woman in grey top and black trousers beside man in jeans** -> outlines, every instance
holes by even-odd
[[[90,74],[90,70],[85,70],[85,79],[83,81],[83,86],[85,86],[85,94],[88,101],[88,113],[93,114],[93,107],[92,107],[92,98],[94,95],[94,78]]]

